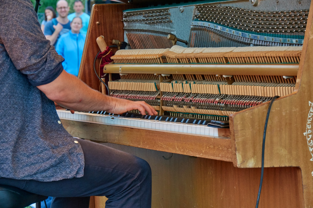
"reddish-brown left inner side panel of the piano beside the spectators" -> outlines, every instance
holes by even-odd
[[[130,4],[94,4],[90,14],[85,47],[80,63],[78,77],[93,89],[99,90],[100,82],[95,75],[93,63],[95,56],[100,51],[96,39],[104,36],[108,46],[112,40],[124,41],[123,10],[131,9]],[[100,60],[96,60],[96,69],[99,71]],[[99,72],[98,72],[99,73]]]

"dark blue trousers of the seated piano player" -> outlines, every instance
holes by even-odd
[[[53,196],[51,208],[88,208],[90,196],[106,196],[105,208],[151,207],[149,164],[105,145],[78,139],[85,155],[84,176],[40,182],[0,178],[0,184]]]

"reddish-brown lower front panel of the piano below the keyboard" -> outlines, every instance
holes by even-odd
[[[236,168],[231,162],[180,154],[173,154],[165,160],[162,156],[170,157],[170,153],[110,143],[105,145],[149,162],[152,208],[255,207],[260,168]],[[265,168],[259,208],[303,207],[299,175],[301,172],[297,167]],[[95,197],[95,208],[103,207],[104,201],[103,197]]]

